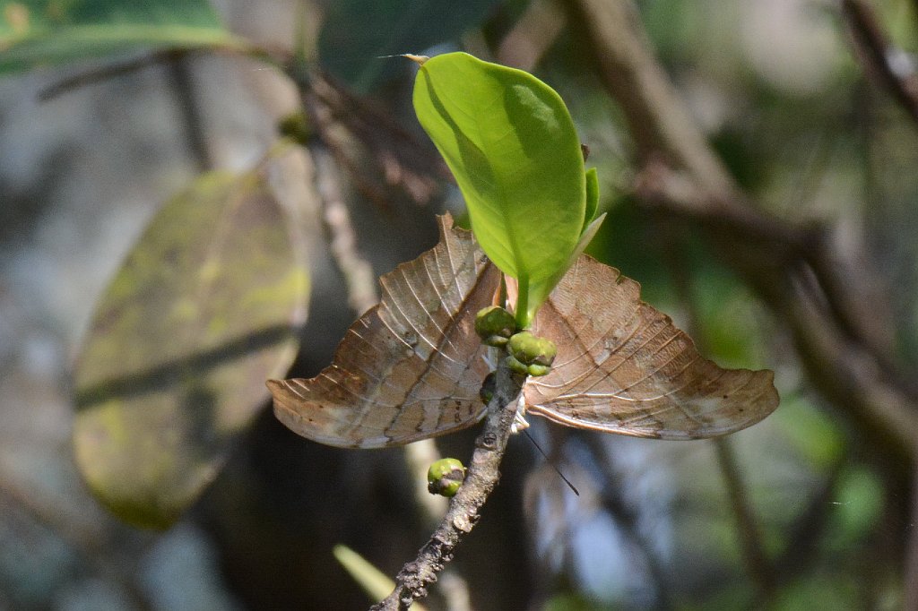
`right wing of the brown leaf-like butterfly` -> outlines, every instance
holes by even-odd
[[[539,310],[551,372],[530,378],[528,411],[571,427],[633,437],[700,439],[755,424],[778,406],[769,371],[725,370],[641,301],[633,280],[581,256]]]

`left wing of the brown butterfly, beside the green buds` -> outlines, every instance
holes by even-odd
[[[475,313],[500,283],[472,233],[441,217],[441,239],[381,279],[382,301],[311,379],[269,380],[274,414],[299,435],[344,448],[382,448],[476,423],[488,372]]]

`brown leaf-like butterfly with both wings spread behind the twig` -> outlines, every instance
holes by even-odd
[[[470,231],[440,217],[440,242],[380,279],[382,299],[348,329],[329,367],[269,380],[274,414],[299,435],[383,448],[471,427],[493,357],[475,332],[501,274]],[[702,439],[749,427],[778,406],[773,372],[704,359],[640,285],[580,255],[533,324],[552,339],[551,371],[523,383],[518,409],[577,428]]]

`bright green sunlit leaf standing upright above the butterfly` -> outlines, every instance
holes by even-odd
[[[541,305],[530,289],[563,274],[584,228],[583,154],[564,102],[532,74],[447,53],[421,65],[414,106],[481,248],[519,281],[517,319],[528,327]]]

